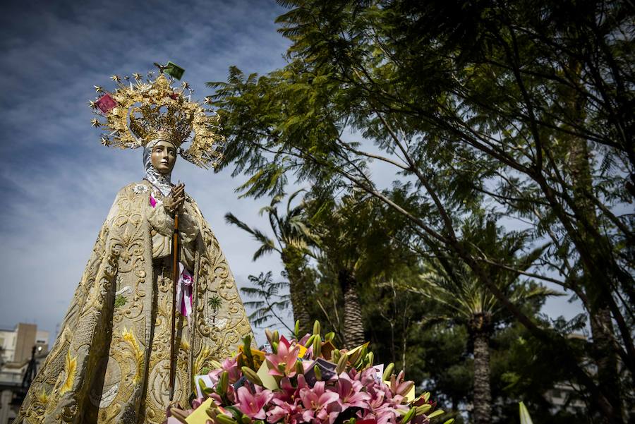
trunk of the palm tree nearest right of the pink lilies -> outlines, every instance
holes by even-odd
[[[474,339],[474,396],[472,413],[474,424],[489,424],[492,416],[490,389],[490,332],[473,331]]]

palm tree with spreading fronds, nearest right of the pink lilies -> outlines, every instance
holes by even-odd
[[[523,253],[528,234],[511,233],[503,236],[502,227],[495,226],[492,221],[485,224],[482,216],[469,219],[462,234],[468,248],[515,269],[486,266],[492,281],[513,303],[522,305],[531,299],[557,294],[531,281],[519,280],[518,271],[531,267],[547,246]],[[504,306],[487,287],[480,284],[465,262],[443,253],[425,262],[421,285],[409,286],[409,290],[447,306],[447,319],[467,326],[473,340],[474,354],[473,422],[490,423],[490,337],[500,323],[509,319]]]

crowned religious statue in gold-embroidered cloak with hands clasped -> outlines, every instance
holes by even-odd
[[[107,131],[104,145],[143,148],[145,178],[116,195],[16,423],[162,423],[171,402],[188,404],[193,376],[251,333],[214,233],[170,181],[177,154],[216,165],[218,116],[190,100],[186,83],[134,77],[114,76],[117,89],[91,102],[93,125]]]

